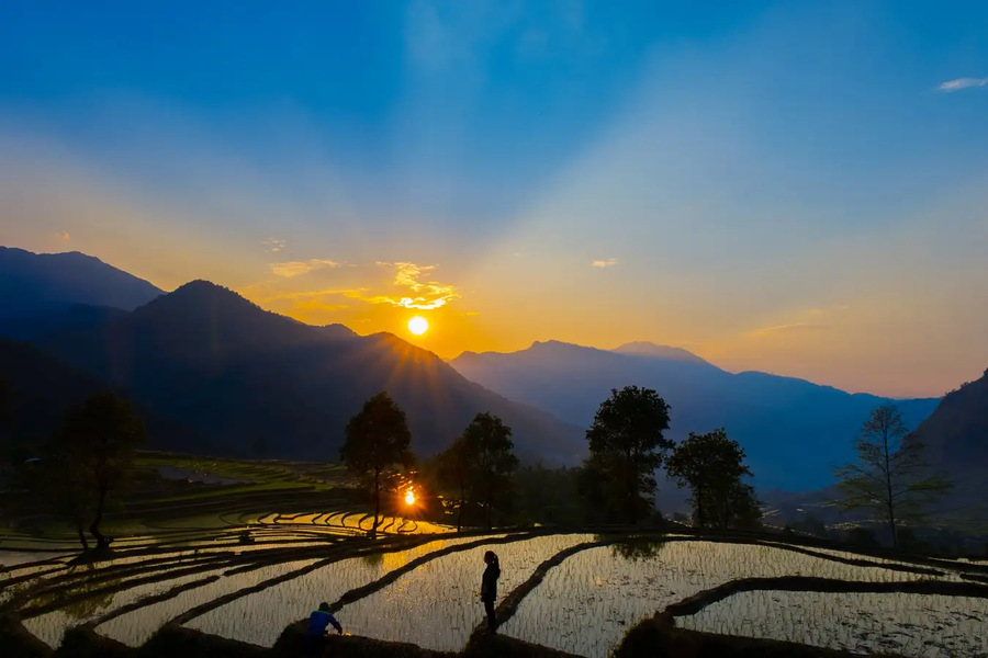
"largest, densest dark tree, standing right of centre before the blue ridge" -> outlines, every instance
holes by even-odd
[[[638,386],[611,389],[586,431],[591,456],[584,481],[593,481],[588,489],[599,491],[604,499],[594,503],[603,502],[629,523],[650,514],[655,469],[673,446],[663,435],[667,429],[669,405],[654,390]]]

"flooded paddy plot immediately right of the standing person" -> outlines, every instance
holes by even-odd
[[[628,628],[642,619],[739,577],[806,576],[862,582],[958,580],[948,572],[933,577],[880,566],[852,566],[794,548],[703,541],[655,544],[643,555],[622,553],[620,546],[590,548],[552,569],[502,632],[581,656],[607,656]],[[586,620],[595,622],[590,625]]]

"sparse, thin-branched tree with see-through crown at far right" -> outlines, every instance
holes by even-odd
[[[871,510],[888,524],[892,548],[898,548],[897,525],[922,518],[923,508],[946,494],[952,484],[930,475],[923,460],[925,444],[906,439],[908,430],[895,405],[876,407],[854,442],[857,462],[834,468],[845,510]]]

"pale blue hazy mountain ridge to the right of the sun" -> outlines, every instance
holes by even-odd
[[[672,407],[672,438],[725,427],[744,446],[761,488],[804,490],[830,484],[830,466],[852,457],[861,423],[886,401],[791,377],[731,374],[685,350],[648,343],[606,351],[536,342],[507,354],[464,352],[450,363],[491,390],[582,428],[593,422],[611,388],[654,388]],[[910,427],[936,404],[897,401]]]

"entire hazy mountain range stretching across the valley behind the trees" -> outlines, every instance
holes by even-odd
[[[766,373],[733,374],[686,350],[643,342],[610,351],[536,342],[447,363],[393,334],[304,325],[204,281],[166,294],[79,253],[0,249],[0,337],[21,341],[0,343],[19,354],[2,358],[0,350],[0,378],[50,373],[44,386],[14,387],[33,400],[19,404],[34,409],[21,427],[35,433],[46,427],[37,420],[46,404],[57,417],[82,392],[114,388],[150,419],[157,447],[335,460],[347,420],[386,389],[405,409],[423,456],[445,447],[478,411],[492,411],[514,428],[527,461],[576,464],[599,402],[610,388],[637,384],[670,402],[671,438],[723,427],[748,452],[759,488],[799,490],[830,484],[830,466],[852,458],[861,423],[886,401]],[[910,427],[938,405],[895,401]],[[928,424],[918,434],[932,436],[931,450],[962,455],[951,457],[952,468],[984,467],[983,453],[977,462],[963,456],[980,426]]]

